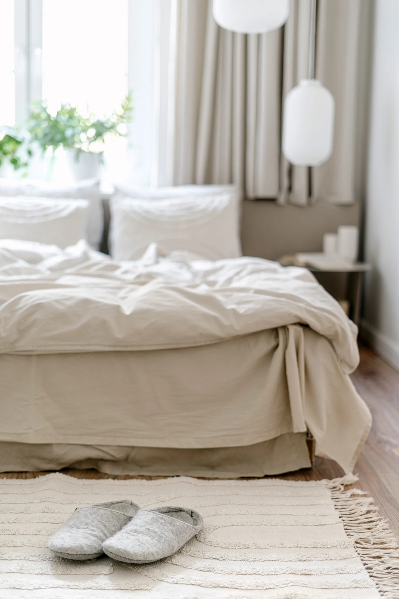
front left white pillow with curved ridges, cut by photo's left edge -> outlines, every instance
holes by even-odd
[[[68,247],[86,238],[86,199],[0,198],[0,239]]]

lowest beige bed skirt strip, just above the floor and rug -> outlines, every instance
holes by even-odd
[[[243,447],[170,449],[108,445],[0,443],[0,471],[95,468],[106,474],[235,478],[309,468],[306,434]]]

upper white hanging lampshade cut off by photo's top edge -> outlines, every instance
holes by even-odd
[[[288,19],[289,0],[214,0],[215,21],[240,34],[263,34]]]

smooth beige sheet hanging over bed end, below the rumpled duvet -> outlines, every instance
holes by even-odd
[[[309,429],[349,471],[371,425],[329,341],[300,325],[179,349],[2,354],[0,380],[3,442],[193,450]]]

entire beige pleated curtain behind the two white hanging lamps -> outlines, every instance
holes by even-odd
[[[280,204],[353,203],[362,0],[318,0],[316,77],[334,95],[336,126],[333,156],[313,169],[281,154],[284,98],[307,77],[310,0],[291,0],[284,28],[263,35],[219,28],[211,0],[171,2],[167,183],[236,183],[247,198]]]

